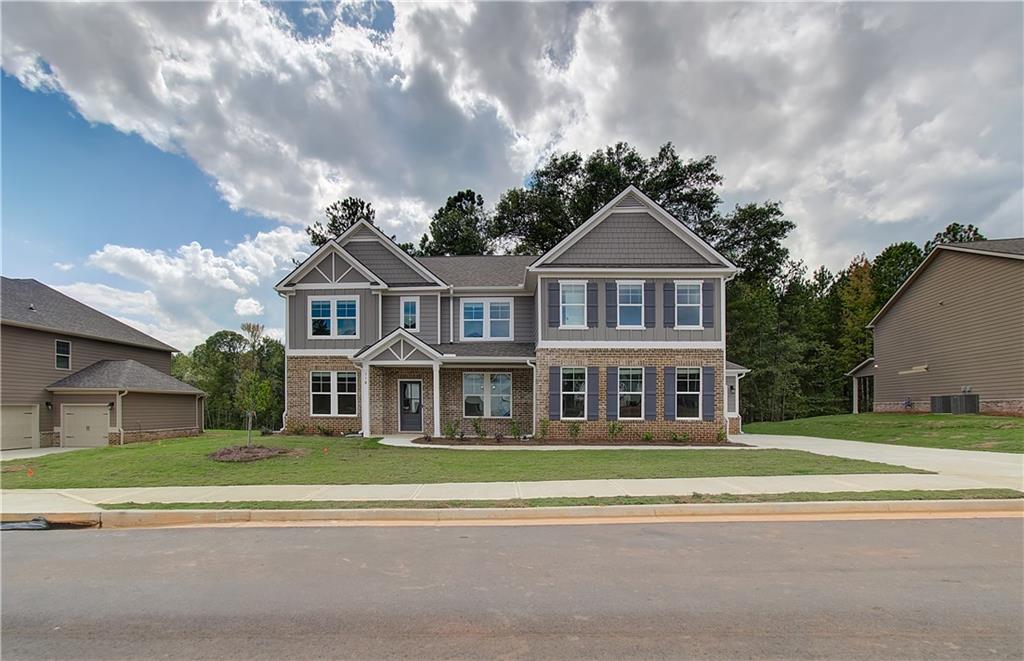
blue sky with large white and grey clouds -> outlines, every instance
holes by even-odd
[[[2,5],[3,272],[189,349],[355,194],[399,240],[556,150],[714,153],[838,268],[1022,228],[1022,5]]]

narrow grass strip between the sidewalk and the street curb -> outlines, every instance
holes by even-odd
[[[456,508],[562,508],[609,504],[689,504],[700,502],[822,502],[835,500],[984,500],[1022,498],[1014,489],[950,491],[794,491],[685,496],[610,496],[587,498],[525,498],[516,500],[241,500],[227,502],[116,502],[103,510],[451,510]]]

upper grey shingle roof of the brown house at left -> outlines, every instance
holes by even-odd
[[[93,338],[159,351],[177,351],[39,280],[0,278],[0,320],[11,325]]]

